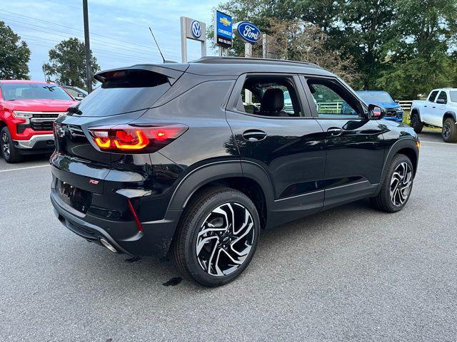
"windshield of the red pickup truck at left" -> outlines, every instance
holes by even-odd
[[[49,83],[4,83],[1,93],[5,100],[73,100],[64,89]]]

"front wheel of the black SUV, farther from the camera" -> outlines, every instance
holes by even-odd
[[[383,212],[399,212],[405,207],[413,189],[414,169],[406,155],[395,155],[388,165],[381,191],[371,203]]]

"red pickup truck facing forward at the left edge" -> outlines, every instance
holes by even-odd
[[[52,125],[78,102],[55,83],[0,81],[0,152],[6,162],[54,150]]]

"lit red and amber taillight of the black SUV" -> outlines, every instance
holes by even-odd
[[[100,150],[124,152],[154,152],[179,138],[186,125],[116,125],[89,128]]]

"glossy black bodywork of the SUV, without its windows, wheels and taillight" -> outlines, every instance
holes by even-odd
[[[418,140],[411,128],[388,120],[316,118],[303,88],[297,89],[301,118],[248,115],[232,102],[240,94],[237,80],[246,73],[336,78],[317,66],[203,58],[119,70],[128,69],[163,73],[169,88],[150,103],[139,99],[139,107],[147,108],[129,113],[90,113],[99,109],[85,107],[82,100],[81,108],[89,112],[56,120],[51,157],[51,202],[59,220],[89,241],[100,243],[103,237],[118,252],[166,254],[186,205],[210,184],[255,184],[261,192],[257,198],[264,199],[267,228],[376,195],[386,165],[397,152],[409,153],[417,167]],[[103,81],[113,72],[97,77]],[[134,108],[134,102],[129,106]],[[189,129],[156,152],[136,154],[102,151],[89,133],[96,126],[126,124],[179,124]],[[341,132],[330,134],[329,128]],[[260,131],[264,137],[249,140],[246,131]],[[77,189],[70,200],[59,194],[61,182]]]

